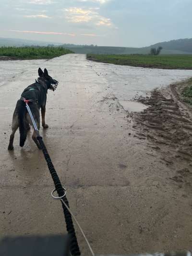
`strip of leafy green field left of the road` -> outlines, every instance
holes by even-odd
[[[62,47],[0,47],[0,58],[24,59],[51,59],[63,54],[73,53]]]

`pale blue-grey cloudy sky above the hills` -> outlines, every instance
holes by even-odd
[[[0,37],[144,47],[192,37],[192,0],[0,0]]]

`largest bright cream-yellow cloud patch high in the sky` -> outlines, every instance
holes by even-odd
[[[88,23],[92,22],[95,25],[100,26],[112,26],[112,22],[109,18],[103,17],[98,13],[99,8],[65,8],[65,12],[68,22],[72,23]]]

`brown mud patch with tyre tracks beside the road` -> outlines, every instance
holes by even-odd
[[[135,136],[146,140],[151,154],[158,151],[169,166],[169,179],[192,192],[192,108],[182,101],[185,83],[154,90],[138,101],[148,108],[132,113]]]

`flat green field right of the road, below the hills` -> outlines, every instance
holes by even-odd
[[[162,69],[192,69],[192,54],[178,55],[107,55],[87,54],[87,60]]]

